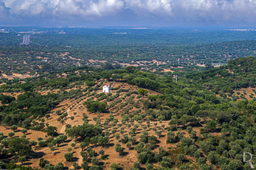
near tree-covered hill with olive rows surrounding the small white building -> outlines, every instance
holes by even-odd
[[[45,169],[246,168],[241,156],[254,150],[255,101],[221,92],[254,88],[244,86],[253,80],[254,61],[183,73],[177,82],[133,66],[5,80],[2,160]],[[105,84],[110,93],[102,93]]]

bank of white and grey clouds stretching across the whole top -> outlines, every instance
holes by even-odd
[[[17,19],[50,16],[64,22],[124,15],[152,21],[255,23],[256,0],[0,0],[1,13]]]

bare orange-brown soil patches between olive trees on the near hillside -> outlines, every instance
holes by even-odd
[[[109,84],[111,82],[104,82],[102,86],[104,86],[104,84]],[[82,86],[82,89],[85,88],[86,86]],[[113,84],[111,85],[111,88],[117,88],[120,87],[120,89],[129,89],[130,91],[138,91],[138,86],[131,86],[129,84],[126,83],[121,83],[121,82],[113,82]],[[56,90],[52,90],[52,91],[42,91],[42,95],[47,94],[48,92],[50,93],[56,93]],[[151,91],[148,90],[149,94],[151,95],[157,95],[159,93],[157,93],[156,91]],[[100,89],[99,91],[96,91],[96,94],[101,93],[102,90]],[[112,96],[116,94],[116,90],[111,91]],[[134,113],[135,111],[138,111],[138,109],[142,109],[143,106],[143,101],[147,100],[147,97],[141,97],[138,98],[138,95],[136,94],[132,94],[129,97],[125,97],[125,94],[127,94],[126,92],[120,93],[120,97],[116,98],[115,100],[108,102],[109,104],[112,104],[113,102],[115,102],[118,99],[122,99],[122,102],[117,103],[114,107],[112,107],[111,109],[109,109],[109,111],[113,112],[113,116],[115,118],[117,118],[118,123],[121,122],[122,120],[122,116],[121,113],[123,111],[125,111],[125,109],[127,109],[128,107],[131,107],[132,104],[126,104],[122,109],[120,109],[119,111],[117,110],[120,105],[124,104],[125,102],[127,102],[127,100],[129,98],[133,98],[132,100],[134,100],[134,102],[136,101],[140,101],[138,102],[138,106],[132,108],[129,113]],[[15,94],[15,96],[17,97],[18,94]],[[45,123],[49,123],[50,126],[54,126],[58,128],[58,133],[59,134],[65,134],[65,125],[70,124],[72,127],[77,126],[77,125],[83,125],[83,114],[85,113],[88,116],[88,120],[89,123],[95,124],[96,122],[93,120],[93,118],[97,117],[98,114],[95,113],[90,113],[86,110],[86,107],[84,104],[84,102],[87,100],[87,96],[83,97],[83,98],[78,98],[77,100],[64,100],[63,102],[61,102],[56,108],[54,108],[52,110],[52,113],[50,114],[50,117],[44,118]],[[96,100],[95,96],[94,96],[94,100]],[[105,100],[102,100],[103,102]],[[72,106],[72,107],[71,107]],[[67,112],[68,116],[64,119],[64,123],[61,123],[60,121],[58,121],[58,118],[60,117],[60,115],[56,114],[56,111],[61,110],[61,112]],[[145,111],[142,111],[141,113],[143,113]],[[109,113],[100,113],[100,122],[104,123],[104,121],[109,118]],[[71,117],[74,116],[74,120],[71,120]],[[36,120],[38,122],[40,122],[39,120]],[[157,123],[157,126],[154,125],[154,123]],[[134,121],[134,125],[138,125],[138,129],[136,131],[135,134],[135,139],[137,140],[137,143],[140,140],[140,135],[142,134],[143,131],[145,131],[142,127],[146,125],[146,120],[143,120],[141,125],[140,123],[138,123],[137,121]],[[163,125],[163,127],[162,127]],[[116,134],[120,134],[120,139],[122,138],[122,136],[124,135],[129,135],[129,130],[130,128],[127,126],[127,124],[125,124],[124,127],[124,134],[120,133],[120,127],[116,126]],[[157,144],[157,146],[162,146],[165,150],[170,150],[170,149],[175,149],[177,148],[177,144],[166,144],[166,139],[167,139],[167,130],[166,127],[168,127],[168,121],[162,121],[161,123],[159,123],[159,121],[151,121],[150,122],[150,127],[147,129],[147,132],[149,135],[156,135],[156,133],[154,132],[153,128],[157,128],[157,130],[163,130],[163,133],[161,135],[161,137],[158,137],[157,135],[157,140],[159,141],[159,143]],[[15,132],[15,136],[21,136],[22,133],[20,132],[22,128],[19,128],[19,130],[17,130],[17,132]],[[109,132],[111,132],[111,130],[113,129],[113,127],[111,126],[111,123],[109,125]],[[199,133],[199,128],[194,128],[193,130],[195,130],[196,134]],[[0,127],[0,131],[4,132],[4,135],[8,135],[8,132],[12,131],[9,128],[4,128],[4,127]],[[182,130],[181,131],[185,137],[188,137],[189,134],[188,132],[186,132],[186,130]],[[177,132],[175,132],[176,134]],[[46,134],[45,132],[38,132],[38,131],[34,131],[34,130],[28,130],[28,133],[26,134],[27,138],[29,139],[29,141],[31,140],[35,140],[37,141],[38,137],[43,137],[44,139],[46,139]],[[100,158],[100,155],[98,155],[97,157],[99,158],[100,162],[104,162],[104,169],[110,169],[111,164],[116,163],[116,164],[120,164],[121,167],[123,167],[124,169],[131,169],[134,162],[137,162],[137,157],[138,157],[138,153],[134,150],[134,145],[132,146],[131,150],[129,150],[125,144],[120,143],[117,141],[116,137],[114,136],[114,134],[110,134],[110,144],[108,147],[106,148],[102,148],[102,146],[99,145],[90,145],[93,150],[97,153],[99,153],[99,151],[101,149],[103,149],[105,151],[105,155],[107,155],[107,159],[106,160],[102,160]],[[38,141],[37,141],[38,142]],[[31,166],[31,167],[35,167],[35,168],[40,168],[38,166],[39,160],[40,158],[44,158],[46,160],[49,160],[49,162],[52,165],[56,165],[58,164],[58,162],[63,162],[64,166],[68,167],[68,168],[72,168],[72,163],[67,162],[64,158],[64,154],[68,153],[68,148],[71,148],[71,144],[72,143],[76,143],[76,146],[74,148],[72,148],[72,152],[74,153],[74,158],[76,159],[76,162],[79,164],[79,166],[81,166],[81,164],[83,163],[83,158],[81,157],[80,153],[81,153],[81,148],[80,148],[80,143],[77,143],[77,141],[75,141],[74,139],[70,139],[68,138],[67,141],[65,141],[65,143],[60,144],[60,146],[56,147],[56,149],[54,151],[51,151],[49,147],[44,147],[44,148],[38,148],[38,146],[36,146],[35,148],[33,148],[33,150],[35,151],[35,154],[33,156],[33,158],[31,158],[30,160],[28,160],[27,162],[25,162],[25,165]],[[116,151],[115,151],[115,144],[116,143],[120,143],[121,146],[123,148],[125,148],[124,152],[125,155],[120,156]],[[158,151],[158,148],[156,148],[153,151]],[[189,158],[189,159],[193,159],[193,158]],[[91,166],[91,164],[89,164],[89,166]],[[155,164],[155,166],[157,166],[157,164]]]

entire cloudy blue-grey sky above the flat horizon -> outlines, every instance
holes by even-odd
[[[0,0],[0,26],[255,26],[256,0]]]

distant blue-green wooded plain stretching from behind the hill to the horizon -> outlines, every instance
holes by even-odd
[[[10,31],[0,33],[0,70],[7,75],[101,66],[104,61],[152,68],[156,60],[161,68],[191,71],[198,64],[225,65],[255,56],[255,31],[2,28]],[[24,35],[30,35],[29,45],[21,45]]]

